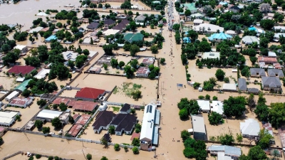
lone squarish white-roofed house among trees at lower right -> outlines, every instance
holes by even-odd
[[[260,126],[259,122],[255,119],[245,119],[244,122],[240,122],[240,131],[242,137],[255,138],[258,137]]]

